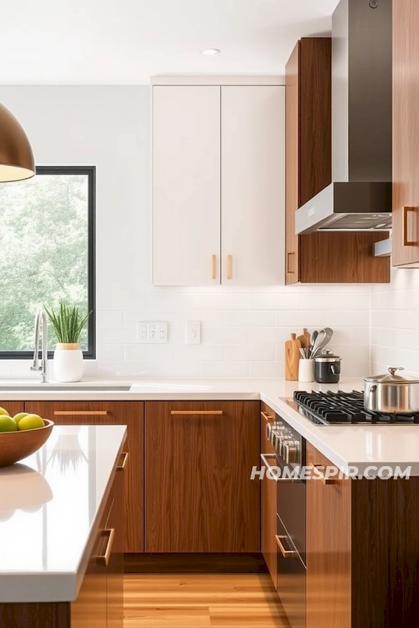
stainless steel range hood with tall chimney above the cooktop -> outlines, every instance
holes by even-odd
[[[390,229],[391,155],[392,0],[341,0],[332,16],[332,183],[297,209],[295,232]]]

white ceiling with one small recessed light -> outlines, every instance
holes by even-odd
[[[146,84],[156,74],[284,74],[338,0],[10,0],[1,84]],[[199,50],[221,49],[215,57]]]

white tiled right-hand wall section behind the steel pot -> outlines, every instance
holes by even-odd
[[[371,343],[374,373],[419,373],[419,269],[392,269],[390,284],[372,286]]]

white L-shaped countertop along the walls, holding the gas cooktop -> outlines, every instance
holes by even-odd
[[[31,390],[20,390],[31,386]],[[115,390],[115,387],[126,390]],[[8,388],[9,387],[9,388]],[[95,390],[89,390],[94,387]],[[112,387],[114,389],[112,390]],[[338,467],[411,465],[419,475],[419,426],[318,426],[286,403],[295,390],[363,390],[364,381],[300,384],[285,380],[84,380],[79,384],[0,381],[0,405],[12,400],[38,401],[237,401],[262,399]]]

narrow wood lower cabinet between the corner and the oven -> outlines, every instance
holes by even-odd
[[[265,403],[260,403],[260,454],[272,456],[275,449],[266,438],[267,424],[274,424],[275,413]],[[275,463],[272,462],[275,466]],[[260,465],[263,461],[260,460]],[[267,477],[260,480],[260,549],[269,569],[272,581],[277,586],[277,482]]]

